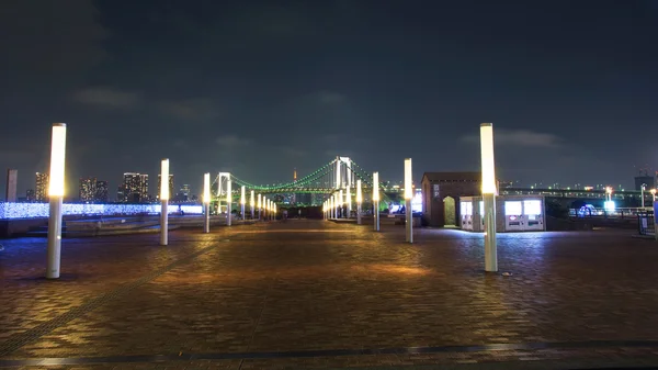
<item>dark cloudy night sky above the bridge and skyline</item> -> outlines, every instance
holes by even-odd
[[[631,187],[658,168],[657,1],[0,1],[0,190],[79,177],[292,180],[350,156],[385,180],[478,170]]]

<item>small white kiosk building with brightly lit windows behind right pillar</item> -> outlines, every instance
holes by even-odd
[[[496,197],[496,231],[544,232],[546,231],[543,195]],[[484,232],[484,204],[481,197],[460,199],[460,227],[466,231]]]

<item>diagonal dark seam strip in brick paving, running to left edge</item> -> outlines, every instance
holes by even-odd
[[[218,243],[215,243],[208,247],[204,247],[204,248],[202,248],[197,251],[194,251],[190,255],[186,255],[185,257],[178,259],[164,267],[154,270],[128,284],[121,285],[110,292],[101,293],[97,296],[93,296],[93,298],[87,300],[86,302],[83,302],[82,304],[75,306],[60,315],[57,315],[47,322],[38,324],[37,326],[32,327],[25,332],[16,333],[16,334],[10,336],[7,340],[4,340],[2,344],[0,344],[0,358],[11,355],[12,352],[14,352],[15,350],[25,346],[26,344],[35,341],[35,340],[39,339],[41,337],[43,337],[44,335],[47,335],[50,332],[65,326],[69,322],[82,316],[83,314],[91,312],[91,311],[98,309],[99,306],[101,306],[121,295],[129,293],[131,291],[135,290],[136,288],[138,288],[140,285],[144,285],[148,282],[156,280],[160,276],[171,271],[172,269],[177,268],[178,266],[186,264],[186,262],[193,260],[194,258],[209,251],[211,249],[216,248],[217,246],[218,246]]]

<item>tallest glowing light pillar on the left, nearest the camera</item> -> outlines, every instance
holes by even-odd
[[[50,214],[48,215],[48,249],[46,278],[59,279],[61,264],[61,200],[64,198],[64,165],[66,158],[66,123],[53,124],[50,139]]]

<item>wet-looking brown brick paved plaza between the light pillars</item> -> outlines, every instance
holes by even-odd
[[[416,242],[322,221],[65,239],[47,281],[45,239],[2,240],[0,367],[658,365],[655,242],[499,235],[511,276],[483,272],[481,235]]]

